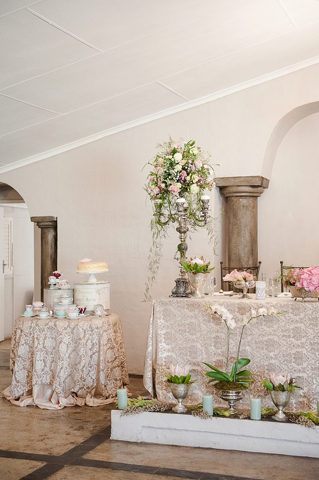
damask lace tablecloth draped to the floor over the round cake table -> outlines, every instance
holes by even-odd
[[[77,319],[19,317],[11,340],[10,402],[59,409],[111,403],[129,383],[122,326],[112,313]]]

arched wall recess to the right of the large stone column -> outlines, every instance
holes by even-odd
[[[269,188],[259,203],[258,244],[269,277],[280,261],[319,265],[317,217],[319,102],[284,115],[269,137],[263,172]]]

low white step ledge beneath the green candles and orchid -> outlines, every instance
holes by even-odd
[[[126,415],[112,410],[111,439],[319,458],[319,427],[295,423],[203,420],[188,414]]]

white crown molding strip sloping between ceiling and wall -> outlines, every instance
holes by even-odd
[[[304,60],[303,62],[296,63],[294,65],[290,65],[289,67],[282,68],[280,70],[276,70],[269,74],[263,75],[261,77],[256,77],[251,80],[248,80],[243,83],[239,83],[238,85],[234,85],[232,87],[226,88],[225,90],[221,90],[219,92],[215,92],[213,94],[196,98],[196,100],[191,100],[186,103],[182,103],[175,107],[169,108],[167,110],[163,110],[161,112],[157,112],[156,114],[147,115],[142,118],[138,118],[137,120],[132,120],[131,122],[123,123],[122,125],[118,125],[116,127],[110,128],[108,130],[104,130],[103,132],[96,133],[94,135],[90,135],[75,142],[67,143],[65,145],[61,145],[60,147],[56,147],[54,149],[48,150],[46,152],[42,152],[37,155],[30,156],[28,158],[23,158],[22,160],[18,160],[17,162],[11,163],[9,165],[5,165],[0,167],[0,174],[5,172],[10,172],[11,170],[15,170],[20,167],[25,167],[26,165],[30,165],[31,163],[38,162],[40,160],[44,160],[46,158],[63,154],[69,150],[73,150],[75,148],[81,147],[86,145],[87,143],[95,142],[96,140],[100,140],[106,136],[114,135],[119,132],[123,132],[124,130],[128,130],[130,128],[138,127],[139,125],[143,125],[145,123],[152,122],[154,120],[158,120],[159,118],[163,118],[168,115],[173,115],[175,113],[182,112],[184,110],[188,110],[189,108],[197,107],[199,105],[203,105],[205,103],[211,102],[216,100],[217,98],[221,98],[223,96],[231,95],[237,93],[241,90],[245,90],[250,87],[254,87],[256,85],[260,85],[261,83],[267,82],[269,80],[273,80],[275,78],[282,77],[284,75],[296,72],[306,67],[310,67],[319,63],[319,57],[309,58]],[[163,88],[166,88],[165,84],[162,85]]]

